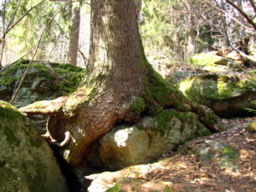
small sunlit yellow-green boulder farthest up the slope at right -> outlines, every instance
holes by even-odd
[[[216,55],[215,51],[192,55],[186,62],[212,72],[224,72],[230,71],[232,68],[240,68],[236,61]]]

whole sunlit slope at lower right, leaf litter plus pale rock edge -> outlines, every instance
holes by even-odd
[[[87,176],[89,180],[95,179],[89,191],[254,192],[256,134],[253,136],[245,129],[253,121],[256,118],[223,119],[226,131],[195,138],[152,164]],[[235,148],[237,155],[230,160],[231,164],[219,164],[223,154],[211,160],[202,160],[195,154],[196,148],[216,141]]]

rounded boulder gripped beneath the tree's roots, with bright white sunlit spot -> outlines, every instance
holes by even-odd
[[[144,117],[137,125],[113,128],[95,143],[87,159],[93,166],[117,171],[152,162],[180,143],[210,133],[195,113],[169,109],[154,117]]]

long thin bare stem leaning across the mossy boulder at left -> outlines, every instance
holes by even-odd
[[[56,12],[55,15],[53,15],[53,17],[49,20],[49,22],[47,23],[47,25],[44,26],[44,30],[41,32],[40,38],[38,39],[38,44],[37,44],[37,47],[36,47],[36,49],[35,49],[34,54],[32,55],[32,59],[31,59],[31,61],[29,61],[28,66],[26,67],[26,72],[24,73],[23,78],[21,79],[20,84],[19,84],[19,86],[18,86],[18,88],[17,88],[17,90],[16,90],[16,92],[15,92],[15,96],[12,98],[10,104],[12,104],[12,103],[15,101],[15,97],[17,96],[17,94],[18,94],[18,92],[19,92],[19,90],[20,90],[20,86],[21,86],[21,84],[23,83],[24,79],[26,78],[26,73],[28,72],[28,69],[29,69],[29,67],[30,67],[31,64],[32,64],[32,61],[33,61],[35,55],[36,55],[37,52],[38,52],[39,44],[40,44],[40,42],[41,42],[41,40],[42,40],[42,38],[43,38],[43,35],[44,35],[44,32],[45,32],[47,26],[49,26],[49,24],[52,22],[52,20],[55,19],[55,16],[56,16],[56,15],[58,15],[63,9],[66,9],[67,5],[68,5],[68,4],[66,4],[66,6],[64,6],[61,10],[59,10],[58,12]]]

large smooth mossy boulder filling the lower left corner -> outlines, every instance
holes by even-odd
[[[0,101],[0,191],[68,191],[48,143],[15,107]]]

